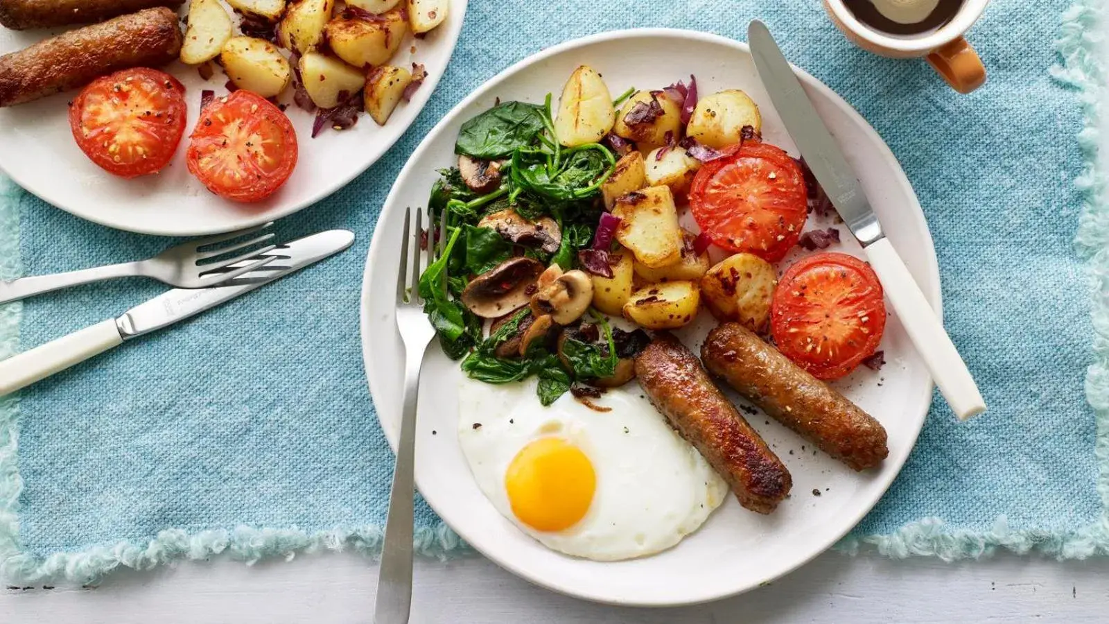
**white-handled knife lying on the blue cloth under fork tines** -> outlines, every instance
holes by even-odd
[[[128,310],[118,319],[109,319],[9,358],[0,362],[0,396],[119,346],[123,341],[161,330],[279,280],[347,249],[352,243],[354,232],[347,230],[329,230],[297,239],[261,254],[275,258],[268,265],[223,285],[167,291]],[[246,262],[253,260],[257,259]],[[275,269],[274,265],[278,266]],[[225,270],[233,270],[234,266]]]

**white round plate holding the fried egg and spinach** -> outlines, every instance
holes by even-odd
[[[581,63],[597,69],[612,93],[631,85],[661,88],[691,72],[696,74],[701,93],[743,89],[762,109],[764,138],[796,154],[759,82],[747,47],[713,34],[667,29],[602,33],[545,50],[477,89],[428,134],[400,172],[369,249],[362,296],[363,355],[377,414],[394,449],[404,370],[404,348],[394,316],[404,209],[426,205],[436,169],[452,161],[455,138],[464,121],[491,107],[498,97],[542,102],[548,92],[560,93],[562,81]],[[813,77],[797,73],[863,177],[889,239],[938,310],[939,276],[932,236],[905,173],[858,113]],[[837,250],[858,253],[846,229],[840,229],[849,242]],[[695,349],[712,325],[708,312],[702,311],[699,321],[700,326],[683,332]],[[471,479],[455,434],[461,373],[435,346],[425,360],[421,379],[416,483],[436,513],[475,548],[551,590],[604,603],[657,606],[736,594],[794,570],[834,544],[874,506],[901,470],[924,424],[932,381],[892,312],[882,349],[888,363],[881,372],[864,368],[836,383],[888,431],[889,456],[881,470],[857,474],[814,452],[811,444],[774,421],[751,416],[793,474],[791,497],[775,513],[763,516],[729,496],[700,531],[654,556],[617,563],[564,556],[541,546],[497,513]],[[538,402],[536,409],[542,409]]]

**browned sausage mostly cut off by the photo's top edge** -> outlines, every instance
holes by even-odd
[[[92,23],[184,0],[0,0],[0,24],[12,30]]]

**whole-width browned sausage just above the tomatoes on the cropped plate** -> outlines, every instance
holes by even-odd
[[[177,14],[164,7],[87,26],[0,57],[0,107],[82,87],[133,67],[163,66],[181,51]]]

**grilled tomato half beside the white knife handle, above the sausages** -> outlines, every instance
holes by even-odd
[[[822,380],[855,370],[874,354],[886,329],[878,276],[845,253],[817,253],[790,266],[770,314],[779,351]]]

